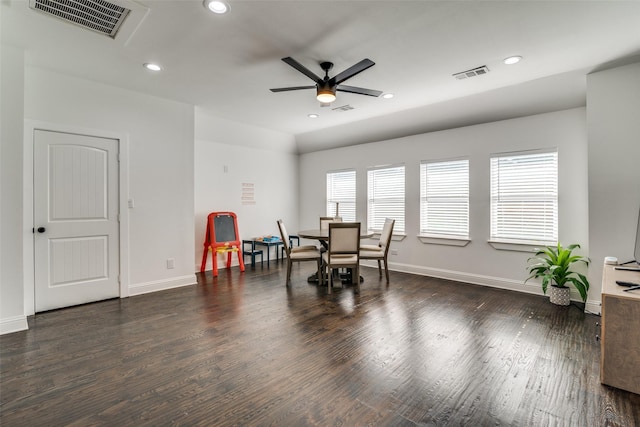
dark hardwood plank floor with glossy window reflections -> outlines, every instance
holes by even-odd
[[[38,314],[0,337],[0,424],[640,425],[577,306],[371,268],[327,295],[313,268]]]

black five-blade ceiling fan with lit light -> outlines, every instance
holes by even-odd
[[[292,87],[281,87],[270,89],[271,92],[286,92],[290,90],[300,90],[300,89],[316,89],[317,96],[316,98],[322,105],[328,105],[336,100],[336,91],[341,92],[349,92],[356,93],[358,95],[368,95],[368,96],[380,96],[382,94],[379,90],[365,89],[361,87],[355,86],[347,86],[341,84],[343,81],[350,79],[366,70],[367,68],[373,67],[376,63],[370,59],[363,59],[355,65],[347,68],[341,73],[336,74],[333,77],[329,77],[329,70],[333,68],[332,62],[321,62],[320,68],[324,71],[324,77],[318,77],[313,71],[309,70],[307,67],[296,61],[291,57],[282,58],[284,62],[291,65],[296,70],[300,71],[305,76],[309,77],[311,80],[316,82],[315,86],[292,86]]]

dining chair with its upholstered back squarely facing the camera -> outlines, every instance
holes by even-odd
[[[329,223],[329,248],[323,254],[327,292],[333,287],[333,269],[351,268],[356,293],[360,290],[360,223]]]

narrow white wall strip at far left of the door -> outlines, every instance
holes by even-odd
[[[22,74],[24,55],[0,50],[0,334],[27,328],[22,289]]]

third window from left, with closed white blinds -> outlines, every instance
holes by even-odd
[[[469,160],[420,164],[420,234],[469,237]]]

